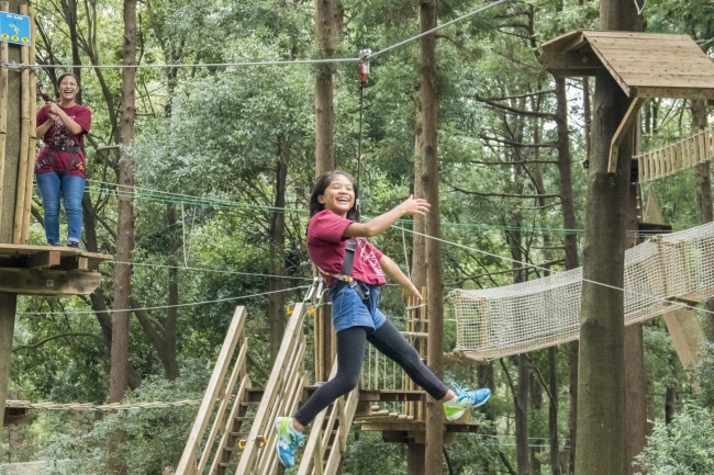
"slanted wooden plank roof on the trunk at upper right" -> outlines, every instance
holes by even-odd
[[[556,76],[606,68],[631,98],[714,100],[714,64],[688,35],[574,31],[543,45]]]

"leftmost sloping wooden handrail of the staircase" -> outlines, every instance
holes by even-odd
[[[241,406],[243,400],[243,395],[245,391],[250,387],[250,380],[246,371],[245,362],[248,351],[248,340],[244,335],[245,326],[245,307],[237,307],[235,314],[233,315],[233,320],[228,327],[228,332],[225,336],[223,341],[223,347],[221,347],[221,352],[209,381],[205,395],[203,396],[203,402],[199,408],[196,422],[191,429],[186,449],[183,450],[183,455],[176,470],[176,475],[201,475],[205,470],[211,453],[215,452],[213,465],[211,467],[211,473],[215,473],[219,455],[221,454],[222,448],[225,445],[225,438],[228,436],[228,432],[225,430],[227,423],[230,423],[235,417],[236,411]],[[225,378],[225,375],[231,369],[231,361],[236,350],[236,346],[239,344],[238,355],[235,358],[233,363],[233,369],[231,371],[231,376]],[[233,389],[241,380],[241,384],[235,394]],[[214,412],[215,405],[219,404],[217,411],[215,411],[215,417],[213,418],[213,425],[209,432],[205,441],[203,437],[208,429],[211,416]],[[230,410],[230,414],[228,414]],[[226,418],[227,415],[227,418]],[[221,436],[221,441],[216,445],[216,439]],[[214,445],[217,446],[214,450]],[[201,450],[203,448],[203,450]]]

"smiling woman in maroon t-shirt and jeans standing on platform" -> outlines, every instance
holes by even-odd
[[[81,197],[85,193],[85,134],[91,126],[89,108],[75,102],[79,93],[77,77],[59,76],[57,102],[47,102],[37,111],[35,137],[45,146],[35,162],[35,179],[45,214],[45,237],[51,246],[59,242],[59,196],[67,212],[67,246],[79,247],[81,238]]]

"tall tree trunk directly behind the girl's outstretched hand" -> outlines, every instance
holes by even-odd
[[[420,30],[425,32],[436,26],[435,0],[420,1]],[[420,177],[424,197],[432,205],[426,217],[426,234],[442,236],[439,213],[439,170],[437,156],[438,95],[436,92],[436,36],[420,38],[420,84],[422,104],[422,160],[424,173]],[[444,279],[442,269],[442,246],[435,239],[426,239],[428,271],[426,289],[428,295],[428,357],[429,369],[437,377],[444,375]],[[426,462],[425,473],[440,474],[444,448],[444,409],[442,403],[426,398]]]

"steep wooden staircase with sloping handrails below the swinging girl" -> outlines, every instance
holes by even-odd
[[[294,306],[268,383],[265,388],[254,388],[245,367],[245,309],[236,309],[176,475],[281,473],[275,450],[276,419],[293,415],[316,388],[308,387],[303,363],[305,310],[302,303]],[[234,358],[238,341],[242,344]],[[333,364],[333,375],[336,366]],[[304,450],[298,455],[300,475],[337,473],[358,402],[359,391],[355,389],[312,422]]]

